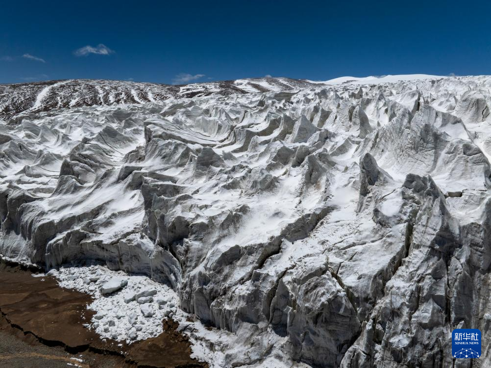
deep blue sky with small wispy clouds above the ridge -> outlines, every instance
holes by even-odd
[[[5,1],[0,83],[491,74],[489,1]]]

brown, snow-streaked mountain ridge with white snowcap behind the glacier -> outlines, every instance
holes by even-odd
[[[314,82],[290,78],[248,78],[229,81],[201,82],[187,85],[166,85],[150,82],[133,82],[100,79],[66,79],[45,82],[0,85],[0,119],[7,120],[23,113],[36,113],[60,108],[82,106],[111,106],[140,103],[162,103],[169,98],[193,98],[233,93],[258,93],[293,91],[316,88],[320,85],[337,85],[394,82],[398,79],[437,79],[430,75],[375,77],[341,77]],[[347,80],[349,78],[350,80]],[[353,79],[353,80],[352,80]]]

